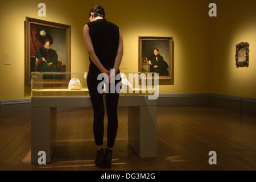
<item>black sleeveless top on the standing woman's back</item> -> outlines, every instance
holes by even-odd
[[[94,52],[101,64],[108,70],[114,67],[119,44],[119,28],[106,19],[98,19],[87,23]],[[94,64],[90,59],[90,63]]]

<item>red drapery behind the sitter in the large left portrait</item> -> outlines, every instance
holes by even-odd
[[[30,35],[30,56],[35,56],[35,52],[43,47],[36,24],[30,24]]]

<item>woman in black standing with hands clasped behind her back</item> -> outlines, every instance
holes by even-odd
[[[105,11],[101,6],[94,6],[89,12],[89,23],[84,26],[84,42],[89,54],[90,66],[87,77],[87,84],[90,99],[93,105],[94,121],[93,133],[97,149],[95,160],[96,166],[100,168],[111,166],[112,149],[117,134],[117,104],[119,93],[106,93],[106,112],[108,115],[107,148],[102,147],[104,137],[104,98],[103,93],[98,92],[97,80],[101,73],[108,75],[108,84],[115,84],[120,80],[110,81],[110,69],[114,70],[111,75],[119,73],[119,66],[123,56],[122,34],[118,26],[105,19]],[[112,76],[113,77],[113,76]],[[121,78],[120,78],[121,79]],[[111,83],[110,83],[111,82]]]

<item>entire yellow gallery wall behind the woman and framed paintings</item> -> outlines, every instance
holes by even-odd
[[[38,4],[46,3],[46,17],[38,16]],[[121,72],[138,71],[138,36],[174,37],[174,80],[160,80],[160,94],[216,93],[231,96],[255,97],[254,13],[243,30],[232,9],[240,5],[217,1],[217,17],[208,16],[211,1],[17,1],[1,2],[0,30],[0,100],[30,98],[30,86],[24,84],[24,20],[26,16],[71,25],[71,69],[88,71],[88,54],[82,40],[82,28],[88,22],[90,8],[100,4],[106,19],[118,24],[123,34],[124,55]],[[255,4],[254,1],[249,2]],[[231,8],[230,8],[231,7]],[[228,10],[228,12],[226,11]],[[246,13],[246,11],[243,11]],[[225,18],[224,18],[225,17]],[[228,23],[228,24],[227,24]],[[228,28],[232,24],[232,33]],[[223,28],[225,27],[225,28]],[[225,31],[223,30],[225,29]],[[241,35],[240,31],[245,31]],[[250,43],[250,65],[236,68],[234,50],[237,43]],[[222,52],[220,55],[216,52]],[[11,65],[3,64],[3,52],[11,53]],[[217,61],[216,61],[217,60]],[[254,79],[255,80],[255,79]]]

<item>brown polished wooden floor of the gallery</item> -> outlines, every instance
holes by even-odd
[[[113,166],[100,169],[94,165],[92,113],[91,108],[58,111],[57,148],[46,165],[30,163],[30,115],[2,118],[0,170],[256,170],[256,115],[241,117],[210,106],[159,106],[158,157],[139,159],[127,142],[127,107],[119,107]],[[216,165],[208,163],[209,151],[216,151]]]

